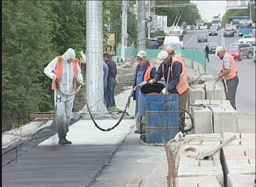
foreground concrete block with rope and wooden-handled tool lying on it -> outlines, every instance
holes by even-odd
[[[200,134],[204,137],[220,137],[220,134]],[[198,134],[186,135],[186,138],[196,137]],[[200,153],[208,152],[220,145],[220,141],[208,141],[204,140],[202,144],[184,144],[183,150],[188,147],[196,148]],[[220,151],[213,155],[213,160],[201,160],[200,164],[195,158],[186,157],[184,153],[180,155],[180,164],[178,169],[178,179],[183,177],[203,177],[211,176],[215,177],[220,184],[224,186],[224,175],[220,162]],[[211,168],[211,169],[209,169]],[[206,182],[206,180],[204,181]],[[209,184],[209,183],[208,183]],[[187,185],[191,186],[191,185]],[[208,185],[209,186],[209,185]]]

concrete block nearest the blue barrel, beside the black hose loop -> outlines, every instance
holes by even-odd
[[[195,104],[210,104],[210,100],[195,100]],[[213,133],[212,112],[206,107],[190,106],[194,119],[193,134]]]

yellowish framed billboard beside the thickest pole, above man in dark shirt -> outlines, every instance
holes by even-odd
[[[117,54],[116,32],[109,32],[107,41],[103,39],[103,53],[109,53],[111,56]]]

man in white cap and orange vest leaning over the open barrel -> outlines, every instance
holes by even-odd
[[[169,55],[167,51],[160,51],[157,59],[157,63],[161,63],[161,65],[159,66],[155,77],[148,83],[154,84],[163,77],[166,85],[168,85],[167,92],[170,94],[179,94],[179,106],[186,109],[189,84],[182,63],[175,57]],[[168,77],[169,81],[167,82]],[[165,93],[165,88],[161,93]],[[179,115],[181,116],[181,121],[185,123],[185,112],[179,109]]]

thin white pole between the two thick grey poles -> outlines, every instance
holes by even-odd
[[[123,60],[123,62],[125,61],[125,56],[124,56],[124,50],[125,50],[125,40],[126,40],[126,33],[127,33],[127,30],[126,29],[126,26],[125,26],[125,16],[126,16],[126,1],[123,0],[122,1],[122,38],[121,38],[121,60]]]

